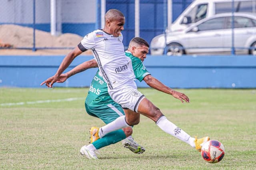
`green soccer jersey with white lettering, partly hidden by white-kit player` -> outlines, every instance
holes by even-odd
[[[132,67],[136,79],[141,82],[146,75],[150,74],[138,57],[134,57],[132,53],[130,53],[130,51],[126,51],[125,55],[127,57],[130,57],[130,59],[132,60]],[[108,94],[107,83],[99,75],[98,70],[96,75],[93,77],[85,103],[87,105],[97,105],[108,103],[110,100],[112,99]]]

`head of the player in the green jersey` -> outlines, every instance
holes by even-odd
[[[146,40],[140,37],[133,38],[130,43],[128,50],[134,55],[135,57],[138,57],[141,59],[141,61],[144,61],[146,59],[146,55],[148,53],[149,45]]]

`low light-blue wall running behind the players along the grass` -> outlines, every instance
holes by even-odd
[[[56,73],[64,56],[0,56],[0,87],[40,87]],[[79,56],[68,67],[92,59]],[[234,56],[150,56],[144,61],[150,73],[172,88],[256,88],[256,57]],[[70,77],[58,87],[88,87],[96,73],[89,69]],[[139,83],[138,87],[148,87]]]

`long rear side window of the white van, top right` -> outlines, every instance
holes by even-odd
[[[256,12],[255,8],[256,0],[234,2],[234,12]],[[215,3],[215,14],[223,12],[232,12],[232,2]]]

